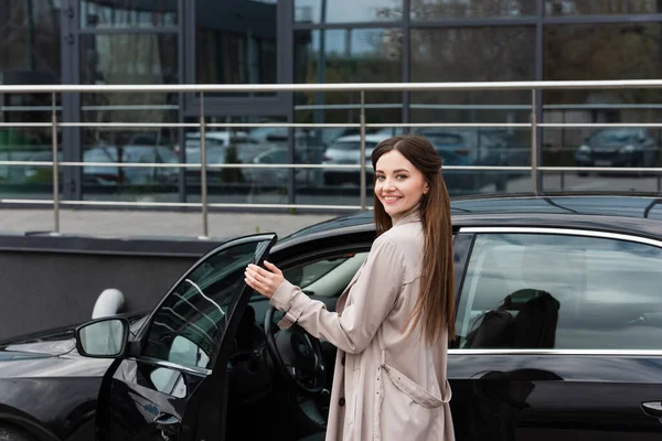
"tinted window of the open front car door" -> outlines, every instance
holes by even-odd
[[[214,346],[245,287],[244,270],[261,244],[221,250],[193,269],[154,313],[142,355],[211,368]]]

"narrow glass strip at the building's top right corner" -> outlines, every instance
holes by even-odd
[[[545,15],[649,14],[661,11],[662,3],[658,0],[545,0]]]

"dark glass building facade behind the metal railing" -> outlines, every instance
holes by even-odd
[[[0,84],[413,83],[662,78],[661,0],[6,0],[0,4]],[[660,90],[545,90],[538,120],[655,122]],[[50,94],[0,96],[1,122],[50,122]],[[366,93],[366,121],[527,122],[530,92]],[[255,122],[359,122],[352,93],[209,94],[209,163],[309,163],[328,169],[210,169],[211,202],[356,205],[357,130],[241,127]],[[197,122],[195,94],[62,94],[61,195],[73,201],[199,202],[191,166],[99,162],[200,161],[195,127],[110,129],[98,122]],[[50,128],[0,129],[0,161],[52,160]],[[402,129],[371,129],[366,146]],[[429,130],[450,165],[527,165],[530,129]],[[652,151],[627,165],[655,166],[660,131],[633,127]],[[545,165],[581,165],[595,130],[537,137]],[[623,141],[630,147],[629,141]],[[634,142],[634,141],[632,141]],[[641,141],[644,142],[644,141]],[[587,144],[589,144],[587,147]],[[595,148],[594,148],[595,150]],[[579,159],[578,159],[579,158]],[[634,158],[634,157],[632,157]],[[639,157],[637,157],[639,158]],[[612,160],[602,160],[612,161]],[[595,162],[595,161],[594,161]],[[96,164],[96,165],[94,165]],[[605,162],[609,165],[609,163]],[[369,176],[370,179],[370,176]],[[530,173],[448,173],[453,194],[531,189]],[[653,176],[579,179],[547,173],[543,190],[660,191]],[[50,198],[49,166],[0,165],[0,197]]]

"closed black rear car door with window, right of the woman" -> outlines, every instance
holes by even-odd
[[[458,440],[660,439],[662,243],[559,228],[460,236],[473,244],[448,362]]]

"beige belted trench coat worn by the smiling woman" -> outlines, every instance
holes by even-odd
[[[424,237],[414,212],[373,244],[337,312],[287,280],[271,297],[280,327],[299,324],[338,347],[327,440],[453,440],[447,338],[402,330],[419,292]]]

